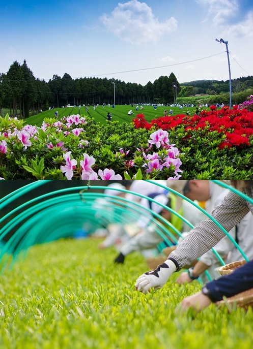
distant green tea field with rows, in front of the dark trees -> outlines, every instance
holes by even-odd
[[[133,115],[128,115],[128,111],[132,109]],[[55,108],[51,110],[46,110],[38,115],[31,116],[29,118],[25,119],[26,124],[31,124],[31,125],[37,125],[41,126],[43,120],[45,117],[54,117],[55,111],[58,111],[58,118],[62,118],[63,116],[69,116],[73,114],[80,114],[82,116],[85,115],[91,115],[94,117],[95,121],[101,122],[101,123],[106,123],[107,118],[106,115],[109,112],[111,115],[113,115],[112,119],[113,121],[118,120],[120,123],[122,122],[131,122],[134,117],[136,117],[137,114],[143,113],[146,116],[146,119],[148,121],[156,118],[163,116],[164,110],[167,109],[169,111],[170,109],[173,110],[173,115],[177,114],[184,114],[187,111],[193,112],[195,111],[195,108],[186,108],[184,107],[183,109],[180,109],[179,107],[157,107],[155,110],[154,107],[152,106],[144,106],[143,110],[136,111],[134,107],[131,107],[129,105],[120,105],[116,106],[115,108],[113,107],[108,107],[105,106],[104,108],[102,106],[98,106],[95,109],[93,107],[89,107],[88,112],[86,111],[85,107],[69,107],[69,108]]]

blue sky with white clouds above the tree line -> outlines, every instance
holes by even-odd
[[[142,85],[253,75],[252,0],[0,0],[0,72],[115,78]],[[208,57],[208,58],[207,58]]]

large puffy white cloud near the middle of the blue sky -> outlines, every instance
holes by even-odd
[[[100,19],[108,31],[131,44],[156,43],[178,26],[174,17],[159,21],[146,3],[137,0],[119,3],[110,15],[103,14]]]

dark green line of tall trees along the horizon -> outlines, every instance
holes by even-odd
[[[115,95],[114,95],[115,84]],[[253,86],[253,77],[233,80],[237,90]],[[0,107],[9,108],[12,116],[21,118],[37,114],[49,107],[97,105],[103,103],[144,104],[175,103],[178,97],[197,93],[216,94],[229,90],[228,81],[198,80],[179,84],[174,73],[160,76],[145,86],[107,78],[77,78],[65,73],[53,75],[48,82],[34,77],[26,60],[21,65],[14,61],[7,73],[0,74]],[[212,93],[211,93],[212,92]]]

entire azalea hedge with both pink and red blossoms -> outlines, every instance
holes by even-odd
[[[70,115],[42,126],[0,118],[2,179],[250,179],[253,97],[232,110],[138,114],[133,123]]]

